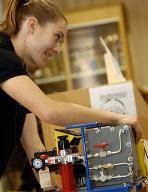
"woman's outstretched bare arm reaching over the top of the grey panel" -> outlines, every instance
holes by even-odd
[[[135,128],[137,137],[141,137],[142,130],[136,118],[54,101],[25,75],[9,79],[1,87],[12,98],[47,123],[61,126],[92,121],[107,125],[130,124]]]

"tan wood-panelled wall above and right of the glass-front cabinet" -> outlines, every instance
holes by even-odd
[[[8,0],[0,0],[7,2]],[[128,40],[135,80],[148,85],[148,1],[147,0],[53,0],[64,10],[96,5],[123,3],[128,26]]]

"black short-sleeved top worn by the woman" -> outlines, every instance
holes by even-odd
[[[10,38],[1,32],[0,84],[18,75],[27,75],[27,72],[15,54]],[[26,108],[0,88],[0,178],[21,136],[26,113]]]

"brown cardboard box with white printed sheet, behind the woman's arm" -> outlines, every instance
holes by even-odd
[[[131,81],[50,94],[48,97],[136,116],[143,128],[143,138],[148,139],[148,106]],[[60,127],[45,123],[42,125],[45,145],[47,149],[52,149],[55,146],[53,130]]]

